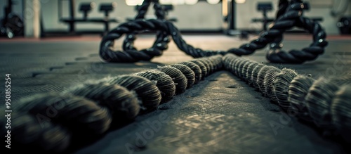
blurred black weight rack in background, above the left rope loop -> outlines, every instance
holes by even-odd
[[[117,3],[102,3],[100,4],[99,11],[104,13],[102,18],[88,18],[88,13],[95,8],[96,4],[91,3],[82,3],[79,7],[79,11],[83,13],[82,18],[77,18],[74,14],[75,1],[69,0],[69,18],[62,18],[62,0],[58,1],[58,11],[60,22],[66,23],[69,25],[69,32],[75,33],[75,25],[77,23],[102,23],[105,26],[105,29],[102,32],[102,35],[110,31],[110,23],[119,23],[119,20],[115,18],[110,18],[110,13],[117,7]]]

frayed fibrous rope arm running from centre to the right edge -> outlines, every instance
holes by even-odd
[[[350,76],[312,79],[291,69],[281,70],[234,54],[224,56],[223,65],[289,115],[351,143]]]

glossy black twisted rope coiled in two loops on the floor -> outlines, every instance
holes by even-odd
[[[157,18],[159,19],[145,20],[143,18],[151,2],[154,3],[154,8],[157,10]],[[204,51],[187,44],[181,37],[179,30],[172,23],[163,19],[162,15],[160,15],[161,9],[159,9],[158,0],[145,0],[143,5],[138,9],[139,13],[135,20],[122,23],[102,38],[100,42],[100,57],[107,62],[114,63],[151,60],[154,56],[161,56],[162,51],[168,48],[168,36],[171,35],[178,49],[194,58],[216,54],[225,55],[227,53],[234,53],[237,56],[249,55],[270,44],[270,51],[267,52],[267,60],[272,63],[304,63],[307,60],[316,59],[320,54],[324,53],[324,47],[328,45],[326,32],[324,32],[319,23],[303,17],[305,5],[302,1],[291,0],[289,1],[289,6],[286,5],[286,3],[279,3],[279,6],[282,7],[279,7],[277,19],[274,21],[272,27],[270,27],[270,30],[263,32],[249,44],[243,44],[239,46],[239,49],[233,48],[228,51]],[[290,30],[294,26],[310,32],[313,35],[313,42],[310,46],[302,50],[282,51],[282,44],[280,43],[282,35],[286,30]],[[135,34],[145,31],[157,31],[157,40],[151,48],[138,51],[133,46]],[[114,40],[119,39],[123,34],[126,34],[126,40],[123,45],[124,51],[114,51],[112,49]]]

